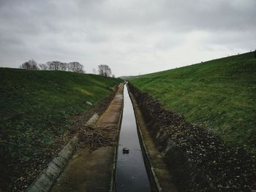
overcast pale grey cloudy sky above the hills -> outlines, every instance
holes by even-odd
[[[0,0],[0,66],[78,61],[121,76],[255,48],[255,0]]]

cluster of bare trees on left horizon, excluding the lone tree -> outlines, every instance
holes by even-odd
[[[19,66],[21,69],[28,70],[56,70],[67,72],[86,73],[83,65],[79,62],[62,63],[61,61],[48,61],[46,64],[37,64],[36,61],[29,60]]]

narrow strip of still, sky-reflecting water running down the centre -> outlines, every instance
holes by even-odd
[[[129,153],[123,154],[128,147]],[[116,192],[151,191],[138,139],[135,114],[127,87],[124,88],[124,112],[116,162]]]

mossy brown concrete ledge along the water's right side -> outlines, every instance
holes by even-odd
[[[162,148],[162,143],[156,143],[158,139],[165,140],[165,131],[159,133],[151,133],[146,126],[146,120],[143,118],[143,112],[140,110],[138,102],[135,97],[129,91],[129,96],[132,100],[133,108],[135,110],[135,117],[138,127],[138,136],[140,137],[140,145],[143,150],[143,157],[148,170],[148,176],[151,181],[152,191],[178,191],[176,185],[173,183],[173,175],[170,170],[167,169],[165,164],[165,155],[159,150]],[[157,128],[156,128],[157,130]],[[157,136],[158,134],[158,136]]]

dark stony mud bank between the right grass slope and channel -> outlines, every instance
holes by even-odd
[[[227,146],[206,128],[165,110],[159,101],[129,84],[154,144],[164,156],[179,191],[252,191],[255,155]]]

